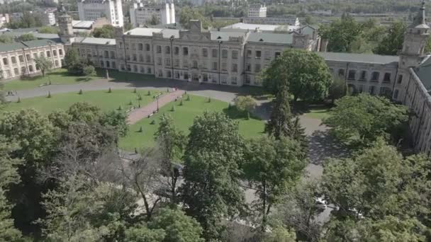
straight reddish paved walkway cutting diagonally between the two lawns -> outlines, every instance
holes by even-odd
[[[166,93],[159,97],[158,100],[153,101],[152,103],[145,105],[145,107],[137,108],[129,113],[127,122],[129,125],[134,125],[139,120],[142,120],[142,118],[148,117],[148,115],[151,115],[154,111],[157,110],[157,108],[162,108],[167,103],[172,102],[179,96],[183,95],[184,91],[177,90],[172,91],[170,93]]]

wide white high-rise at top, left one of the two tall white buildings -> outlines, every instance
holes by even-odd
[[[82,21],[105,17],[114,26],[124,25],[121,0],[79,0],[78,13]]]

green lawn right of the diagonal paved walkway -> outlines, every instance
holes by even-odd
[[[240,134],[246,139],[257,137],[264,131],[264,122],[259,119],[251,118],[246,120],[245,115],[237,113],[235,108],[228,110],[228,103],[220,100],[211,100],[208,103],[207,98],[201,96],[191,96],[191,100],[183,102],[184,105],[180,106],[179,102],[168,103],[164,107],[160,108],[159,113],[153,115],[150,118],[144,118],[137,122],[135,125],[131,125],[129,128],[128,135],[120,139],[121,149],[128,151],[134,151],[135,148],[149,147],[154,142],[154,134],[158,127],[159,117],[163,113],[168,113],[172,116],[175,121],[175,125],[178,129],[184,131],[186,134],[189,133],[189,127],[193,124],[193,120],[196,116],[201,115],[204,111],[219,111],[225,112],[229,117],[240,122]],[[171,112],[172,106],[175,105],[175,111]],[[150,125],[150,122],[155,120],[155,125]],[[143,132],[138,132],[142,127]]]

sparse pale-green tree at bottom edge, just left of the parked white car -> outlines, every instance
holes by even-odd
[[[301,241],[319,241],[322,233],[321,224],[316,221],[323,207],[315,202],[322,196],[318,180],[301,180],[289,190],[282,202],[276,207],[276,214],[271,219],[281,221],[284,226],[295,229]]]

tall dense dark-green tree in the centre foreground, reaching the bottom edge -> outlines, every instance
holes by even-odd
[[[220,238],[221,219],[242,210],[238,178],[243,147],[237,122],[221,113],[203,113],[190,127],[180,194],[187,214],[201,224],[206,240]]]

